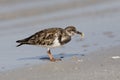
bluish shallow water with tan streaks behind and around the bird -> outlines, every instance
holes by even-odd
[[[85,33],[83,40],[76,35],[65,46],[52,49],[53,55],[63,60],[120,45],[119,0],[52,1],[0,2],[0,71],[45,63],[47,49],[17,48],[15,43],[44,28],[73,25]]]

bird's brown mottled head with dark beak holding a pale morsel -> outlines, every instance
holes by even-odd
[[[65,28],[65,31],[66,33],[69,35],[69,36],[73,36],[75,34],[79,34],[81,35],[81,38],[84,38],[84,33],[83,32],[80,32],[80,31],[77,31],[76,28],[74,26],[68,26]]]

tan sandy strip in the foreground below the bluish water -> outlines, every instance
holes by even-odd
[[[0,73],[0,80],[120,80],[120,46]]]

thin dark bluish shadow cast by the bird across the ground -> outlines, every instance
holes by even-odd
[[[63,59],[63,58],[70,58],[73,56],[84,56],[84,54],[64,54],[64,53],[60,53],[60,54],[55,54],[53,55],[54,58],[59,58],[59,59]],[[24,58],[19,58],[18,60],[50,60],[49,57],[47,55],[43,55],[43,56],[35,56],[35,57],[24,57]]]

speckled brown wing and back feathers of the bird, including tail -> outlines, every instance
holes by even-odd
[[[59,37],[61,34],[62,28],[49,28],[39,31],[32,36],[25,38],[23,40],[16,41],[20,43],[18,46],[23,44],[30,45],[52,45],[55,37]]]

